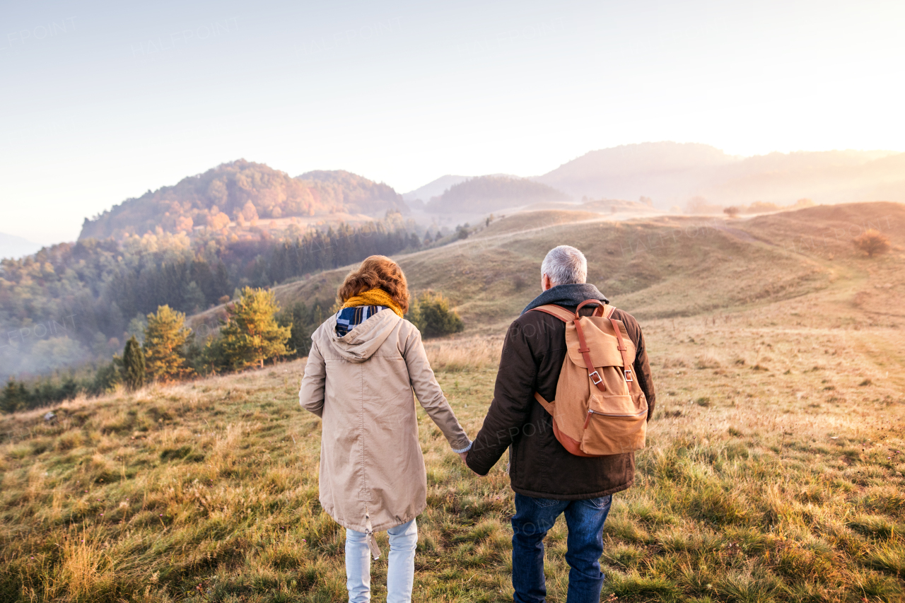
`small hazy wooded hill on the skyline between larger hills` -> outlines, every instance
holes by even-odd
[[[542,201],[565,201],[567,198],[556,188],[527,178],[479,176],[452,185],[443,195],[433,197],[426,209],[435,213],[481,213]]]

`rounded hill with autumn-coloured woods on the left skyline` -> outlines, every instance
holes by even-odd
[[[80,240],[154,233],[219,232],[261,219],[351,212],[379,215],[405,210],[402,196],[385,184],[345,171],[290,177],[238,159],[148,191],[86,218]]]

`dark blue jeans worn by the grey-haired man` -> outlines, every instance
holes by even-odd
[[[515,495],[512,517],[512,587],[515,603],[544,603],[544,536],[566,514],[568,541],[567,603],[599,603],[604,575],[600,556],[604,554],[604,522],[610,512],[612,494],[584,501],[555,501]]]

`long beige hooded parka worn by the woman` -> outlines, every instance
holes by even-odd
[[[443,396],[421,333],[392,310],[345,336],[336,315],[311,335],[302,407],[321,417],[320,504],[340,525],[374,531],[409,522],[427,504],[412,392],[452,449],[471,445]]]

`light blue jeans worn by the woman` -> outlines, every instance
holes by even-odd
[[[418,525],[412,520],[387,530],[390,535],[386,570],[386,603],[410,603],[414,582],[414,549]],[[371,552],[363,531],[346,529],[346,588],[349,603],[371,600]]]

